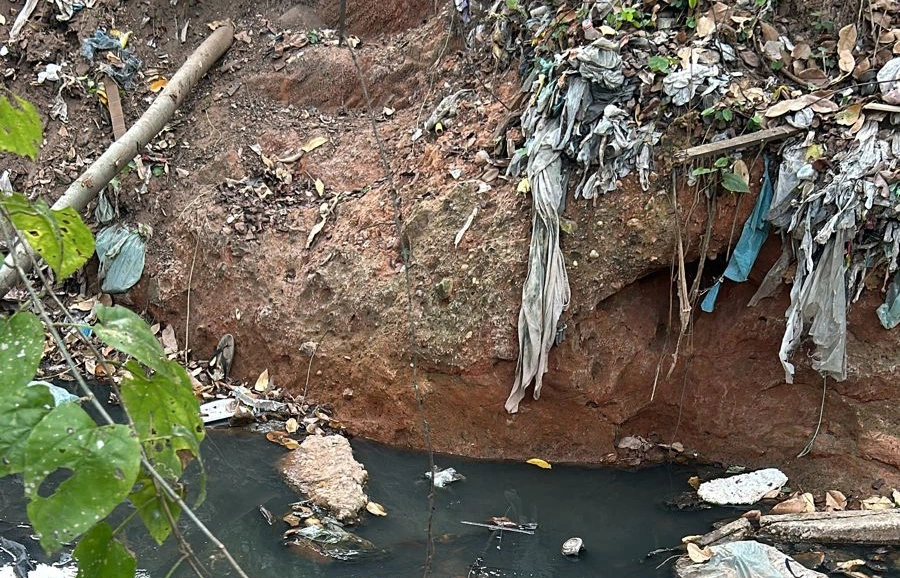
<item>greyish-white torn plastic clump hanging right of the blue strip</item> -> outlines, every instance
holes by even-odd
[[[797,257],[778,354],[788,383],[794,374],[789,359],[807,329],[816,346],[812,367],[838,381],[846,378],[849,296],[861,290],[866,268],[884,263],[890,269],[896,267],[891,248],[896,212],[893,203],[883,202],[871,179],[896,163],[896,158],[893,138],[888,142],[878,137],[878,122],[867,121],[856,134],[854,147],[836,158],[838,170],[830,173],[833,176],[824,185],[816,182],[816,172],[805,170],[808,165],[800,164],[796,155],[786,153],[779,170],[779,181],[784,177],[787,184],[776,184],[769,220],[789,223],[788,242]],[[884,248],[880,255],[876,243],[866,248],[866,239],[878,236]]]

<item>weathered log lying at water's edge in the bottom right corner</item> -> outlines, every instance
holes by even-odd
[[[760,516],[756,538],[819,544],[900,545],[900,509]]]

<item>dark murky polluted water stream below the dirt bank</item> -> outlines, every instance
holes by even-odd
[[[349,528],[372,542],[377,551],[357,560],[339,561],[285,546],[288,528],[281,516],[298,495],[282,481],[278,459],[285,450],[261,434],[242,430],[210,430],[203,443],[208,496],[198,513],[253,578],[389,578],[422,575],[426,555],[429,482],[423,474],[423,453],[398,451],[354,440],[354,454],[369,472],[369,499],[382,504],[386,517],[364,514]],[[647,558],[650,551],[676,546],[681,538],[702,534],[713,522],[739,515],[733,509],[677,511],[668,500],[690,491],[695,473],[682,466],[637,471],[555,465],[541,469],[511,462],[475,461],[436,455],[441,468],[453,467],[466,479],[435,489],[432,530],[433,572],[436,577],[655,577],[672,576],[670,564],[657,568],[666,554]],[[29,547],[21,482],[0,480],[0,535]],[[272,525],[259,506],[274,514]],[[518,523],[536,523],[533,535],[469,526],[506,516]],[[182,516],[182,520],[184,517]],[[214,549],[186,521],[180,524],[195,551],[211,560],[214,576],[232,576]],[[125,536],[138,556],[142,576],[163,578],[180,557],[173,541],[157,547],[135,524]],[[560,548],[577,536],[585,550],[566,558]],[[37,553],[38,548],[34,548]],[[40,558],[39,554],[37,555]],[[5,562],[5,560],[4,560]],[[5,578],[12,570],[0,571]],[[146,572],[146,573],[145,573]],[[187,565],[173,576],[192,576]]]

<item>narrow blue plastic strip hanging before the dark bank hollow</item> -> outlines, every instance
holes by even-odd
[[[750,269],[759,256],[763,243],[769,236],[769,223],[766,221],[766,215],[769,212],[769,205],[772,202],[772,180],[769,178],[769,158],[765,159],[765,168],[763,169],[763,186],[753,205],[753,212],[744,222],[744,230],[741,231],[741,238],[738,239],[731,259],[722,277],[716,281],[709,292],[704,297],[700,308],[707,313],[712,313],[716,305],[716,297],[719,295],[719,287],[722,285],[723,279],[730,279],[738,283],[743,283],[750,275]]]

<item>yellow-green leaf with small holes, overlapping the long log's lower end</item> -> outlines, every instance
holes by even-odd
[[[94,236],[71,207],[54,210],[42,201],[28,202],[13,193],[0,201],[16,229],[62,280],[94,254]]]

